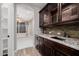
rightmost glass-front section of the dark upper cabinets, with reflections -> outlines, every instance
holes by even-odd
[[[67,6],[66,6],[67,5]],[[79,4],[62,4],[62,21],[74,20],[78,18]]]

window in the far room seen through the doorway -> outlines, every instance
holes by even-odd
[[[22,18],[17,18],[17,33],[27,33],[28,32],[28,21],[24,21]]]

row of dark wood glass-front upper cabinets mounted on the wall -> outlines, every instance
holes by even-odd
[[[40,27],[79,22],[78,3],[48,3],[40,12]]]

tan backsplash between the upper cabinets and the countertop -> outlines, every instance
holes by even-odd
[[[64,32],[66,32],[71,38],[79,38],[79,26],[75,25],[57,26],[46,28],[46,30],[44,30],[44,33],[46,34],[58,35],[58,33],[60,33],[60,36],[63,36]]]

